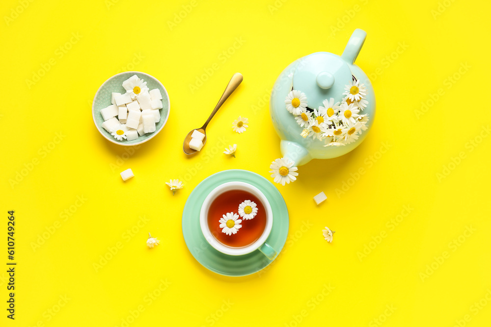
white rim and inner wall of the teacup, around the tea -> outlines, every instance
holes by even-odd
[[[208,210],[211,203],[220,194],[231,190],[241,190],[251,193],[261,201],[264,209],[266,210],[266,227],[264,228],[262,235],[256,241],[254,241],[254,243],[244,248],[232,248],[222,244],[215,238],[215,236],[213,236],[210,228],[208,227]],[[216,250],[229,255],[244,255],[257,250],[261,245],[266,242],[266,239],[270,235],[271,229],[273,227],[273,211],[271,210],[268,199],[266,199],[264,194],[256,187],[245,182],[227,182],[213,189],[213,191],[211,191],[210,194],[208,194],[208,196],[205,198],[205,201],[203,201],[199,213],[199,225],[201,226],[201,232],[205,236],[207,242]]]

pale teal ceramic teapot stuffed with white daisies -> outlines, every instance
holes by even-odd
[[[276,79],[271,119],[281,139],[281,154],[294,166],[346,154],[368,134],[375,96],[368,76],[355,65],[365,38],[366,32],[356,29],[341,56],[309,54]]]

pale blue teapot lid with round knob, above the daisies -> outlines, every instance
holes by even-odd
[[[340,56],[316,52],[300,59],[293,73],[293,89],[305,94],[309,108],[319,108],[329,98],[341,101],[344,87],[352,80],[351,69]]]

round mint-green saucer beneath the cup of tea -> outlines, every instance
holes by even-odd
[[[207,177],[192,190],[183,210],[183,236],[192,256],[204,267],[224,276],[246,276],[257,273],[273,262],[259,250],[245,255],[228,255],[215,250],[205,239],[199,225],[199,212],[206,196],[218,185],[241,181],[257,187],[264,193],[273,210],[273,228],[266,242],[277,254],[281,252],[288,236],[288,210],[279,191],[263,176],[234,169]]]

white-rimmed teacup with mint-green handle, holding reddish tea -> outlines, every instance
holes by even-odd
[[[210,230],[210,226],[208,224],[208,213],[213,201],[215,201],[220,195],[224,194],[225,192],[234,191],[234,190],[245,191],[253,195],[255,198],[257,198],[260,201],[261,208],[264,210],[264,214],[266,217],[266,224],[261,235],[255,241],[243,247],[231,247],[218,241],[217,237],[215,237],[212,231]],[[237,207],[238,206],[239,203],[237,203]],[[235,213],[237,213],[237,210],[235,211]],[[223,212],[223,214],[226,214],[226,212]],[[221,216],[216,217],[217,224],[219,224],[218,221],[220,218]],[[239,218],[239,219],[242,219],[241,229],[246,228],[247,223],[249,223],[250,221],[244,220],[244,218]],[[237,182],[227,182],[217,186],[214,190],[210,192],[210,194],[208,194],[208,196],[203,201],[203,204],[201,205],[201,210],[199,213],[199,224],[201,226],[201,231],[205,236],[207,242],[219,252],[228,255],[244,255],[259,250],[270,260],[273,260],[274,257],[276,256],[276,251],[266,242],[268,236],[271,233],[271,229],[273,227],[273,211],[271,209],[271,205],[268,199],[264,196],[264,194],[260,190],[258,190],[253,185],[250,185],[245,182],[237,181]],[[241,229],[239,229],[237,233],[240,233],[241,231],[244,232],[244,230]],[[235,235],[232,235],[231,237],[234,236]]]

